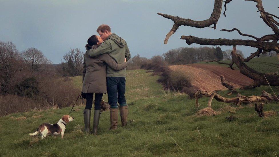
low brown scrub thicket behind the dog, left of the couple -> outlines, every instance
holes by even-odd
[[[75,103],[80,92],[71,80],[62,77],[31,77],[18,86],[21,87],[19,95],[0,95],[0,116],[52,107],[68,107]]]

